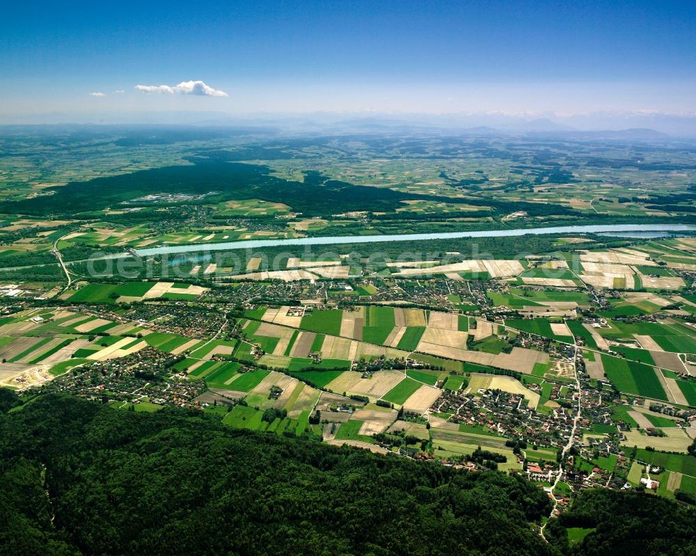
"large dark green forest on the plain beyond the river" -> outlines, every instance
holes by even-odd
[[[222,154],[220,154],[222,153]],[[204,152],[205,158],[189,157],[191,166],[166,166],[152,170],[97,177],[88,182],[71,182],[50,188],[51,196],[0,202],[0,213],[8,214],[76,214],[113,207],[119,202],[149,193],[210,193],[207,202],[258,198],[283,202],[306,216],[330,216],[340,212],[369,210],[394,212],[413,194],[393,189],[361,186],[308,174],[303,182],[291,182],[270,175],[267,166],[240,164],[235,153]],[[526,210],[529,214],[582,214],[560,205],[532,202],[508,202],[494,199],[450,198],[416,195],[422,200],[464,202],[468,205],[493,206],[502,214]],[[177,204],[177,203],[175,203]]]

